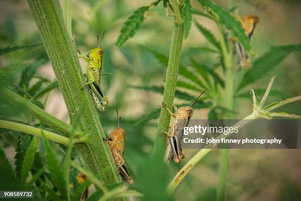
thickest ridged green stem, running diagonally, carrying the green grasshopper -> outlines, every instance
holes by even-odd
[[[78,120],[78,128],[89,135],[86,143],[76,148],[81,153],[87,167],[95,175],[108,168],[101,178],[105,184],[121,181],[110,148],[103,140],[105,134],[99,122],[88,89],[82,90],[84,75],[81,70],[75,44],[71,41],[63,23],[58,0],[28,0],[32,16],[37,25],[60,91],[67,106],[71,124],[79,109],[83,112]],[[87,104],[82,105],[83,102]]]

